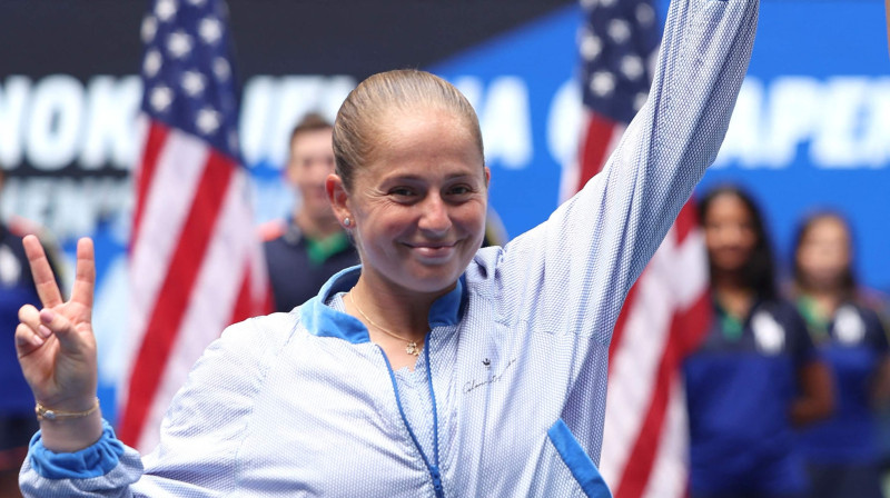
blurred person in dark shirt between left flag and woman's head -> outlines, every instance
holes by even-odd
[[[334,172],[332,133],[332,123],[316,113],[306,114],[290,133],[285,178],[299,202],[289,220],[263,230],[276,311],[290,311],[318,293],[330,276],[358,265],[325,193],[325,180]]]

